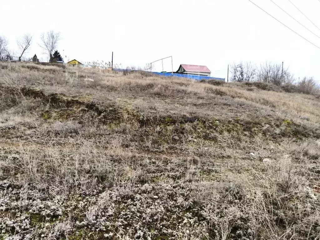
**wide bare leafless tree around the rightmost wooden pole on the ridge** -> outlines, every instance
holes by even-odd
[[[289,72],[289,68],[285,68],[282,71],[281,63],[265,62],[260,64],[258,71],[258,81],[272,83],[275,85],[288,85],[292,84],[294,78]]]

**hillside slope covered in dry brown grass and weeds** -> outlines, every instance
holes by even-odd
[[[316,96],[0,63],[0,239],[319,239],[319,174]]]

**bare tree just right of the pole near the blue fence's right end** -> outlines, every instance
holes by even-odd
[[[231,81],[235,82],[250,82],[255,80],[256,66],[251,62],[246,63],[233,63],[230,68]]]

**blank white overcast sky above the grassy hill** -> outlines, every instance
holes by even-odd
[[[308,32],[270,0],[252,0],[287,26],[320,47],[320,38]],[[320,36],[288,0],[273,0]],[[319,0],[291,0],[320,28]],[[206,65],[211,76],[227,77],[228,63],[266,60],[289,67],[296,78],[320,80],[320,49],[285,28],[248,0],[105,0],[105,1],[3,1],[0,35],[16,49],[16,38],[26,32],[34,42],[26,56],[35,53],[44,61],[39,36],[59,31],[58,51],[82,63],[111,61],[126,66],[145,66],[173,56],[173,70],[181,63]],[[161,62],[156,64],[161,71]],[[171,70],[171,60],[164,61]]]

